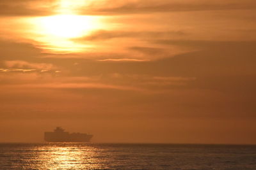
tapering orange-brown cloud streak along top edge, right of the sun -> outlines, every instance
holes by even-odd
[[[243,10],[255,9],[253,0],[228,0],[228,1],[156,1],[156,0],[129,0],[129,1],[99,1],[87,6],[95,15],[125,15],[132,13],[154,13],[170,11],[209,11],[209,10]],[[89,13],[90,13],[89,11]],[[88,12],[88,11],[86,11]],[[85,12],[85,13],[86,13]],[[84,13],[84,10],[81,10]]]

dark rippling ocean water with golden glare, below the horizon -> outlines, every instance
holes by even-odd
[[[254,145],[1,143],[0,169],[256,169]]]

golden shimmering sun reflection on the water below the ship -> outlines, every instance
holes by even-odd
[[[99,169],[100,160],[95,157],[95,148],[90,145],[57,144],[38,148],[40,169]]]

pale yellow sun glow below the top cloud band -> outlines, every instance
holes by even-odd
[[[84,15],[53,15],[27,20],[31,24],[29,36],[40,42],[40,48],[57,53],[79,52],[92,45],[76,41],[93,31],[106,29],[101,17]],[[27,34],[28,35],[28,34]]]

